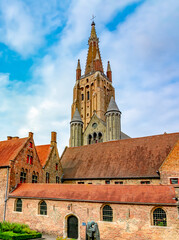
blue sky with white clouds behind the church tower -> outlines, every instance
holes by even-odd
[[[178,0],[0,0],[0,141],[32,131],[36,144],[48,144],[57,131],[60,152],[68,145],[92,15],[123,132],[178,131]]]

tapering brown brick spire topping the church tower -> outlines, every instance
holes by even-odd
[[[96,56],[98,57],[98,71],[103,72],[103,64],[101,60],[101,55],[99,51],[99,39],[96,34],[95,23],[94,21],[91,24],[91,35],[88,40],[88,55],[86,60],[85,74],[96,71]],[[103,72],[104,73],[104,72]]]

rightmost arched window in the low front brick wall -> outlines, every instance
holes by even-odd
[[[156,208],[153,211],[153,225],[167,226],[167,215],[162,208]]]

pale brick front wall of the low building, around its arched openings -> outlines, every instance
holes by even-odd
[[[23,199],[22,213],[14,212],[15,199],[8,200],[8,220],[29,224],[33,229],[67,236],[67,219],[78,218],[79,238],[85,240],[86,227],[83,223],[94,220],[98,223],[101,240],[176,240],[179,234],[179,219],[176,206],[164,206],[167,227],[152,225],[151,212],[154,206],[111,204],[113,222],[101,218],[101,203],[49,201],[47,215],[38,214],[40,200]]]

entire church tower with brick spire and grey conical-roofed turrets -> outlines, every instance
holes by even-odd
[[[105,73],[94,21],[84,75],[79,59],[77,63],[70,124],[71,147],[129,138],[121,132],[121,112],[115,102],[111,66],[108,61]]]

